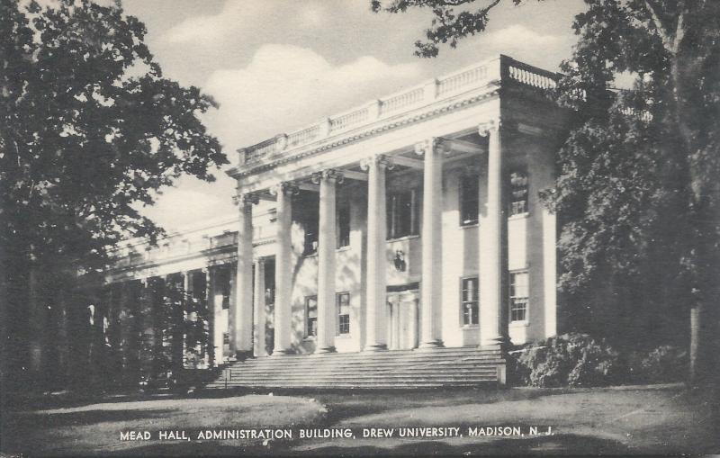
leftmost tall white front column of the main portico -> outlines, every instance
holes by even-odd
[[[248,355],[252,351],[253,203],[257,203],[254,194],[243,194],[238,199],[238,271],[235,302],[230,305],[235,308],[230,322],[230,353],[233,355]]]

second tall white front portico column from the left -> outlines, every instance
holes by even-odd
[[[277,242],[275,246],[275,349],[273,355],[291,353],[293,335],[293,193],[297,187],[281,183],[277,195]]]

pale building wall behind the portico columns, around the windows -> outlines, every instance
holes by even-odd
[[[527,165],[528,212],[509,217],[509,270],[527,270],[530,297],[527,321],[509,323],[509,337],[515,344],[554,335],[554,274],[549,275],[546,258],[548,250],[554,251],[554,215],[539,201],[538,192],[553,184],[552,154],[542,143],[520,141],[514,143],[513,163]],[[460,224],[460,176],[468,168],[480,168],[480,157],[448,162],[443,178],[443,302],[437,319],[442,322],[443,340],[446,346],[473,346],[480,342],[478,325],[464,325],[461,309],[461,281],[478,275],[479,229],[477,224]],[[482,199],[487,182],[480,179]],[[388,175],[388,193],[398,189],[417,188],[421,193],[422,175],[419,171],[405,171]],[[347,192],[348,188],[344,188]],[[338,351],[358,351],[363,348],[362,337],[365,316],[365,184],[354,184],[351,200],[350,246],[340,248],[336,254],[336,291],[350,292],[351,332],[336,337]],[[294,211],[302,211],[296,208]],[[420,216],[420,215],[419,215]],[[420,222],[421,227],[422,222]],[[314,338],[306,336],[305,300],[317,294],[317,256],[302,256],[304,230],[298,222],[293,223],[293,344],[302,353],[314,351]],[[396,258],[401,252],[403,263]],[[420,283],[422,272],[421,238],[419,235],[388,240],[386,250],[387,284],[390,289],[412,288]],[[554,265],[554,259],[552,260]],[[552,290],[549,293],[547,290]],[[550,310],[545,312],[545,306]],[[482,319],[482,317],[481,317]],[[551,324],[547,324],[551,323]]]

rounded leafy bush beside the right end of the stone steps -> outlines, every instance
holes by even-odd
[[[622,373],[617,351],[605,340],[564,334],[528,346],[509,364],[516,380],[539,387],[603,386]]]

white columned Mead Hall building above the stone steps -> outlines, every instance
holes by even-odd
[[[206,301],[197,367],[554,336],[554,85],[500,56],[240,149],[238,214],[125,244],[109,283]]]

